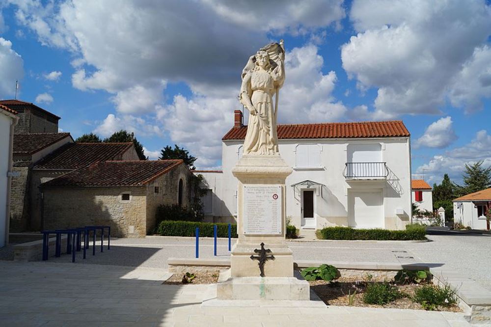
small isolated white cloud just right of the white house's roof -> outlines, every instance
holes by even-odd
[[[430,124],[425,133],[414,142],[415,148],[426,146],[429,148],[445,148],[458,137],[452,127],[452,117],[447,116]]]

